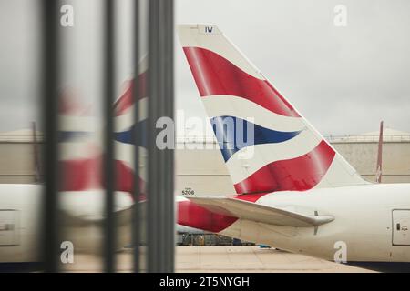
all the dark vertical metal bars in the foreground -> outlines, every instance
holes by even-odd
[[[59,85],[59,74],[61,71],[60,47],[59,47],[59,7],[58,1],[42,1],[43,19],[43,93],[42,116],[44,128],[43,165],[45,177],[44,190],[44,217],[43,217],[43,240],[40,243],[43,249],[43,257],[46,272],[56,272],[59,269],[59,152],[58,152],[58,105],[60,96],[57,93]],[[101,176],[105,191],[105,217],[103,224],[103,261],[106,272],[117,270],[116,250],[116,215],[114,198],[116,193],[116,165],[115,165],[115,143],[114,143],[114,112],[113,102],[115,95],[115,0],[105,0],[104,9],[104,47],[103,51],[103,116],[104,116],[104,138]],[[149,122],[146,132],[148,134],[149,172],[148,193],[142,200],[140,196],[138,166],[135,166],[133,176],[134,205],[132,208],[132,246],[134,247],[134,271],[139,267],[139,228],[146,224],[148,229],[148,258],[149,272],[173,272],[174,271],[174,156],[172,149],[159,150],[156,146],[156,121],[159,117],[173,119],[174,93],[173,93],[173,1],[172,0],[150,0],[149,4]],[[139,0],[134,3],[134,65],[135,85],[138,87],[138,60],[139,60]],[[134,88],[133,99],[135,103],[134,125],[138,123],[138,88]],[[137,126],[134,126],[137,128]],[[137,129],[136,129],[137,130]],[[135,165],[138,165],[138,137],[134,132],[132,136],[135,146]],[[14,136],[15,137],[15,136]],[[21,137],[21,136],[20,136]],[[30,136],[32,137],[32,136]],[[37,136],[37,140],[41,140]],[[142,220],[139,214],[139,205],[148,205],[148,217]]]

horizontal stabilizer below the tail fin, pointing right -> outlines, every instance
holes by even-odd
[[[319,226],[333,221],[333,216],[306,216],[281,208],[262,206],[226,196],[196,196],[190,201],[213,213],[233,216],[276,226]]]

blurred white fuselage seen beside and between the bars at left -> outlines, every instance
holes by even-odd
[[[71,241],[76,253],[101,252],[104,195],[101,189],[59,193],[61,240]],[[42,196],[41,185],[0,185],[0,263],[40,261]],[[129,193],[115,192],[118,249],[131,243],[132,217],[129,209],[133,203]],[[141,206],[139,210],[140,219],[145,219],[145,207]],[[176,230],[181,233],[203,233],[200,229],[179,225]],[[145,230],[140,228],[140,232],[140,241],[145,244]]]

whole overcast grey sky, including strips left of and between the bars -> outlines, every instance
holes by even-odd
[[[81,3],[75,5],[77,30],[67,33],[75,45],[66,52],[76,58],[66,63],[72,68],[67,69],[67,85],[80,88],[84,98],[100,95],[91,77],[101,70],[100,55],[95,53],[100,41],[96,1],[67,1]],[[347,8],[345,27],[333,24],[333,9],[339,4]],[[25,128],[37,119],[36,7],[35,0],[0,0],[0,131]],[[126,14],[130,9],[126,4],[118,11]],[[175,1],[177,24],[218,25],[323,135],[374,131],[382,119],[410,132],[409,11],[406,0]],[[130,24],[127,16],[122,17],[121,31],[127,33]],[[118,43],[127,46],[130,38],[120,37]],[[132,75],[132,63],[127,47],[118,51],[123,57],[118,67],[120,88],[121,80]],[[177,38],[175,53],[176,107],[187,116],[204,118]]]

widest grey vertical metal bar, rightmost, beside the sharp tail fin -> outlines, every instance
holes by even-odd
[[[156,122],[173,117],[173,2],[149,2],[149,271],[174,270],[173,151],[159,149]],[[167,125],[171,126],[171,125]],[[174,136],[168,136],[174,138]]]

